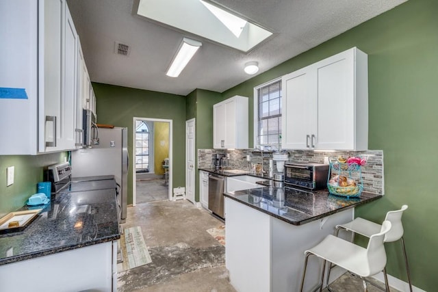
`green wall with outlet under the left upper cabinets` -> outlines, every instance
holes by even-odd
[[[44,166],[64,162],[67,152],[0,156],[0,217],[20,209],[43,181]],[[14,184],[6,187],[6,168],[14,166]]]

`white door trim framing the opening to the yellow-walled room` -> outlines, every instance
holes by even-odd
[[[136,121],[137,120],[148,120],[152,122],[168,122],[169,123],[169,174],[168,174],[168,200],[172,200],[172,156],[173,156],[173,120],[167,120],[162,118],[139,118],[133,117],[133,133],[132,133],[132,155],[135,157],[136,153],[136,135],[134,135],[136,129]],[[132,164],[132,206],[136,207],[136,163]]]

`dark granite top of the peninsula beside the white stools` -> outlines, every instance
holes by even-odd
[[[306,224],[382,197],[363,192],[357,198],[344,198],[333,196],[326,189],[311,192],[281,187],[281,184],[230,191],[224,196],[294,225]]]

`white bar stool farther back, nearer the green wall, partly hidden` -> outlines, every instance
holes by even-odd
[[[406,271],[407,271],[407,275],[408,275],[408,281],[409,281],[409,289],[412,292],[412,284],[411,284],[411,273],[409,272],[409,264],[408,264],[408,258],[407,258],[407,254],[406,254],[406,248],[404,246],[404,239],[403,239],[403,224],[402,224],[402,215],[403,215],[403,211],[405,211],[406,209],[408,209],[408,206],[406,204],[404,204],[402,206],[402,208],[400,210],[396,210],[396,211],[389,211],[386,214],[385,220],[388,220],[389,222],[391,222],[392,227],[391,230],[389,230],[389,233],[387,233],[385,235],[385,239],[384,242],[393,242],[393,241],[398,241],[399,239],[401,239],[402,241],[402,248],[403,248],[403,255],[404,255],[404,263],[406,264]],[[381,230],[381,225],[380,224],[376,224],[374,222],[365,220],[361,217],[357,217],[355,220],[348,222],[346,224],[339,224],[336,226],[336,236],[339,233],[339,229],[345,229],[348,231],[352,231],[353,235],[354,233],[363,235],[365,237],[370,237],[371,235],[373,235],[374,233],[377,233],[378,230]],[[386,269],[383,271],[384,273],[386,273]],[[327,277],[330,276],[330,269],[329,269],[329,274]],[[385,274],[385,278],[387,278],[387,275]],[[327,278],[327,280],[329,280]],[[374,286],[376,286],[374,284]],[[377,286],[378,287],[378,286]],[[378,287],[381,288],[381,287]]]

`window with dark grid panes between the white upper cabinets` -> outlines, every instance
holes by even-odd
[[[257,146],[281,148],[281,79],[255,88],[257,94]]]

